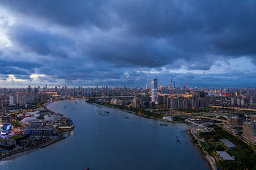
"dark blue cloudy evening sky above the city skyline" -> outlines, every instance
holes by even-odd
[[[2,0],[0,87],[145,87],[151,78],[255,87],[255,9],[255,1]]]

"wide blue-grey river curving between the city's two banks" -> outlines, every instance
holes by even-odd
[[[209,169],[190,142],[190,124],[99,108],[84,99],[56,101],[48,108],[73,120],[72,134],[0,160],[0,169]]]

